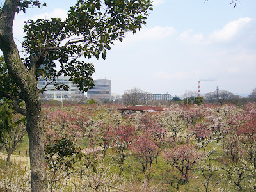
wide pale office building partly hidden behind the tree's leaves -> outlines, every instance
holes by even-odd
[[[77,88],[76,84],[73,84],[72,81],[69,81],[69,78],[70,77],[67,76],[60,76],[58,77],[58,79],[56,79],[58,83],[65,83],[68,86],[70,86],[70,88],[67,91],[65,91],[63,88],[61,88],[60,90],[56,90],[54,89],[54,83],[51,83],[47,86],[47,91],[45,91],[41,95],[42,100],[58,100],[61,102],[63,100],[81,99],[84,96],[84,94],[82,93],[82,91],[79,90],[79,88]],[[45,79],[38,81],[38,89],[44,88],[46,84],[47,81]]]

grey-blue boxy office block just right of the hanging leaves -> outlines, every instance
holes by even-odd
[[[94,80],[94,86],[87,92],[87,99],[102,101],[111,101],[111,80]]]

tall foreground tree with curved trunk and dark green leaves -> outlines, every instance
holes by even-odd
[[[13,40],[15,14],[42,5],[46,4],[37,0],[6,0],[0,8],[0,49],[8,68],[0,79],[0,96],[13,100],[13,107],[27,118],[32,191],[47,191],[39,95],[47,87],[38,90],[38,80],[45,77],[51,83],[64,75],[70,76],[70,81],[83,92],[92,88],[93,65],[77,58],[99,58],[102,54],[105,59],[106,50],[111,49],[114,40],[122,41],[125,33],[135,33],[145,24],[151,6],[146,0],[79,0],[65,20],[29,20],[24,27],[26,58],[22,60]],[[59,71],[55,61],[60,62]],[[65,84],[55,83],[55,86],[68,89]],[[26,108],[18,105],[23,100]]]

